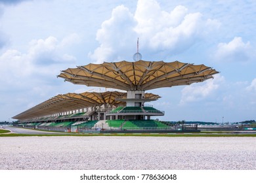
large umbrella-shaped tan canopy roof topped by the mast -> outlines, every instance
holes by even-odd
[[[205,65],[180,61],[119,61],[90,63],[68,68],[58,77],[74,84],[115,88],[119,90],[152,90],[155,88],[203,82],[219,72]]]

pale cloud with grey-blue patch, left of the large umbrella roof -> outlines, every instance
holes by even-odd
[[[75,57],[62,52],[62,42],[55,37],[48,37],[31,41],[26,53],[12,49],[1,54],[0,81],[3,86],[28,85],[42,76],[57,75],[54,71],[59,70],[58,63],[74,64]]]

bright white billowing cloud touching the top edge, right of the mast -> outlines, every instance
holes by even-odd
[[[188,8],[181,5],[171,12],[161,10],[154,0],[139,1],[135,18],[135,30],[146,41],[146,48],[155,52],[165,50],[167,54],[190,48],[209,29],[219,26],[216,20],[204,20],[200,12],[188,13]]]

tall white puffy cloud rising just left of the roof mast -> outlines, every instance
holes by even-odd
[[[131,40],[137,37],[133,30],[135,25],[135,18],[128,8],[123,5],[114,8],[112,17],[104,21],[96,33],[100,46],[89,54],[91,59],[100,63],[110,58],[118,58],[119,52],[131,52]]]

